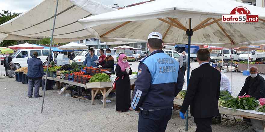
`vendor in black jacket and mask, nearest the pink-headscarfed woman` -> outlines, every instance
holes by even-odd
[[[111,56],[111,49],[106,49],[106,55],[107,57],[99,63],[99,68],[111,68],[112,74],[115,74],[114,72],[114,58]]]

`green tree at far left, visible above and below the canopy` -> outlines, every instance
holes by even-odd
[[[9,10],[2,10],[4,13],[0,13],[0,25],[17,17],[19,13],[11,13]],[[11,40],[4,40],[1,44],[1,46],[11,46],[11,45],[16,45],[17,41],[11,41]]]

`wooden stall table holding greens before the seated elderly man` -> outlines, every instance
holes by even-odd
[[[182,103],[183,100],[174,99],[174,107],[181,106]],[[259,127],[262,127],[263,132],[265,132],[265,113],[257,112],[254,110],[240,110],[240,109],[233,110],[231,108],[226,108],[221,106],[218,106],[218,108],[220,114],[242,116],[251,119],[251,124],[256,131],[260,130]]]

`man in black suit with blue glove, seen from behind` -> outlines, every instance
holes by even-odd
[[[219,116],[218,100],[220,95],[220,72],[209,64],[210,52],[200,49],[197,61],[200,67],[192,70],[187,93],[180,110],[180,117],[190,105],[191,115],[196,123],[196,132],[212,132],[210,122],[213,116]],[[188,117],[187,117],[188,118]]]

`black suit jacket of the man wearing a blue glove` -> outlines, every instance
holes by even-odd
[[[192,70],[187,93],[181,112],[186,113],[190,105],[191,115],[195,118],[209,118],[219,115],[221,73],[210,64],[202,64]]]

